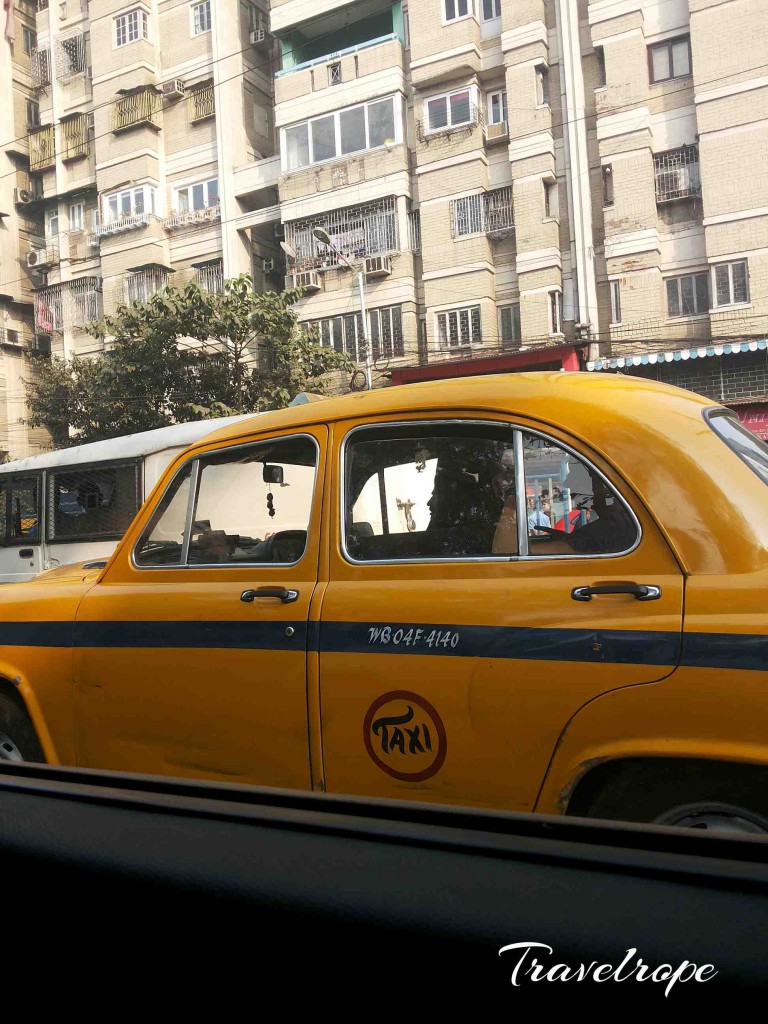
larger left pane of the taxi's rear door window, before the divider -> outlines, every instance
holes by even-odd
[[[490,424],[395,426],[356,434],[345,465],[345,547],[358,561],[477,558],[496,552],[514,504],[512,431]]]

